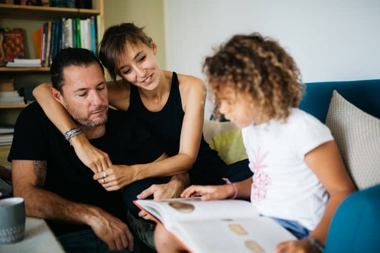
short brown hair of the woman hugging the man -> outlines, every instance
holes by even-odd
[[[125,53],[127,41],[133,45],[143,43],[151,47],[151,38],[143,30],[143,27],[137,27],[133,23],[113,25],[105,30],[100,42],[99,59],[113,80],[118,75],[116,65]]]

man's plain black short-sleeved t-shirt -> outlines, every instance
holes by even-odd
[[[113,164],[152,162],[163,153],[144,126],[130,114],[112,109],[108,110],[105,135],[90,142],[106,152]],[[120,191],[107,192],[93,180],[93,172],[79,160],[73,147],[35,102],[16,121],[8,160],[45,160],[45,190],[70,201],[98,206],[121,219],[124,216]],[[57,221],[48,223],[56,235],[88,228]]]

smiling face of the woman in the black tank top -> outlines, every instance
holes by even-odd
[[[119,75],[141,89],[156,89],[161,77],[156,54],[157,47],[154,43],[148,47],[141,42],[137,45],[127,42],[126,51],[117,64]]]

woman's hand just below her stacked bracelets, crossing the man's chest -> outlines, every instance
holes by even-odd
[[[94,173],[105,171],[112,165],[107,153],[95,148],[84,135],[77,135],[71,144],[78,158]]]

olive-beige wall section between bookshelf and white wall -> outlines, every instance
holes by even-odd
[[[133,22],[137,26],[145,26],[145,32],[158,45],[157,59],[162,68],[165,61],[163,0],[106,0],[104,1],[104,27]]]

